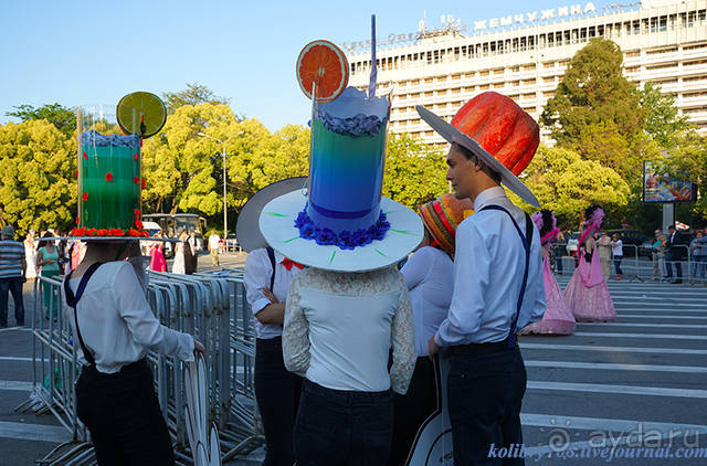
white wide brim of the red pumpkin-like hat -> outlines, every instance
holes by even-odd
[[[488,153],[478,142],[460,131],[457,128],[446,123],[444,119],[428,110],[421,105],[415,106],[418,114],[440,134],[447,142],[458,144],[460,146],[471,150],[475,156],[481,158],[484,163],[488,166],[493,171],[500,176],[500,182],[504,183],[509,190],[515,192],[532,206],[539,208],[540,202],[532,194],[532,192],[526,187],[523,181],[510,172],[502,162],[499,162],[494,156]]]

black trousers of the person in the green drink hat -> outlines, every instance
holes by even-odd
[[[84,367],[76,383],[76,402],[101,466],[175,464],[152,371],[144,359],[113,374]]]

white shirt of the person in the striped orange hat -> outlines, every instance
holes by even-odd
[[[430,354],[428,341],[446,318],[454,292],[454,263],[436,247],[419,248],[400,269],[410,292],[418,357]]]

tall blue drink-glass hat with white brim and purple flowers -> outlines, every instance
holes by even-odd
[[[338,49],[331,53],[344,56]],[[329,102],[313,98],[307,189],[278,197],[261,212],[267,243],[298,263],[372,271],[399,262],[422,240],[418,214],[381,195],[390,103],[373,94],[374,52],[372,56],[368,95],[344,85]],[[312,95],[317,96],[316,81],[314,87]]]

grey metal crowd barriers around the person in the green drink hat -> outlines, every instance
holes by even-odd
[[[219,427],[222,458],[250,453],[262,445],[263,434],[253,382],[255,333],[242,271],[194,275],[150,272],[149,276],[147,300],[155,315],[163,325],[193,335],[207,348],[209,421]],[[72,435],[38,464],[93,465],[89,433],[76,414],[76,345],[63,311],[62,280],[55,278],[38,277],[34,283],[32,392],[15,410],[51,413]],[[52,307],[59,311],[48,318],[44,309]],[[157,353],[149,353],[148,361],[177,462],[190,465],[182,364]]]

